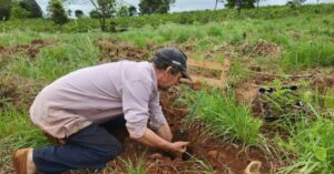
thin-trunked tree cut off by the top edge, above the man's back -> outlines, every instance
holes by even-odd
[[[90,0],[90,2],[99,14],[101,30],[107,31],[106,19],[112,17],[116,11],[115,0],[97,0],[97,3],[94,0]],[[115,25],[111,24],[110,29],[115,30]]]

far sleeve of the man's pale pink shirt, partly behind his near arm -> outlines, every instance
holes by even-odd
[[[148,108],[150,114],[149,124],[153,130],[157,130],[160,127],[160,125],[167,123],[166,117],[161,110],[158,92],[153,93],[153,98],[149,101]]]

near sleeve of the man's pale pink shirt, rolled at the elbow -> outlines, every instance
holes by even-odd
[[[124,84],[122,111],[127,130],[132,139],[141,137],[147,126],[150,93],[151,88],[145,81],[127,81]]]

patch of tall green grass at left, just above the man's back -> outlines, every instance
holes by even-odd
[[[63,34],[60,43],[42,48],[33,61],[24,54],[14,54],[9,64],[21,76],[52,81],[70,71],[98,63],[98,49],[91,35]]]

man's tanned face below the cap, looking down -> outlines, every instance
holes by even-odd
[[[166,71],[164,71],[163,78],[158,82],[158,88],[160,90],[168,90],[170,86],[177,84],[181,76],[183,74],[180,72],[173,74],[171,68],[168,68]]]

